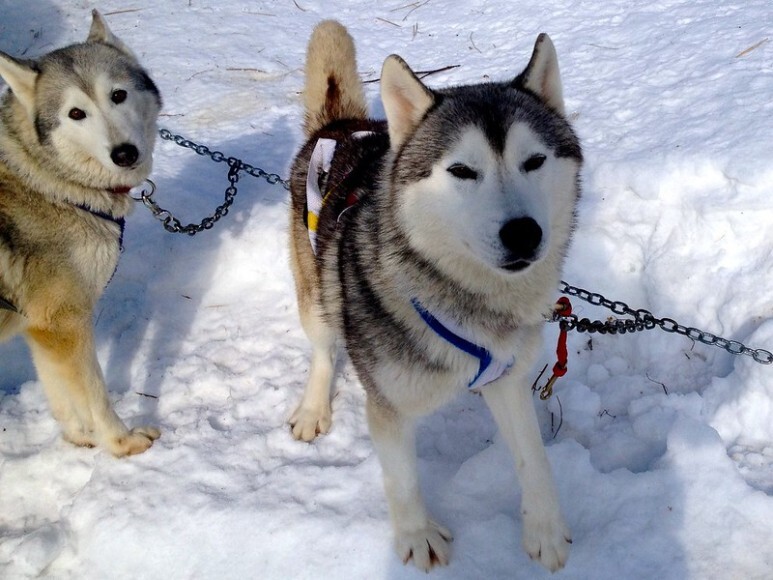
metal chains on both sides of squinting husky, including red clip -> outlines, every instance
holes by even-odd
[[[200,145],[190,139],[186,139],[181,135],[176,135],[167,129],[160,129],[159,135],[166,141],[172,141],[180,147],[185,147],[195,151],[198,155],[203,157],[209,157],[215,163],[225,162],[228,169],[228,187],[225,189],[224,200],[221,205],[215,208],[212,216],[205,217],[198,224],[183,225],[182,222],[172,214],[171,211],[162,208],[153,199],[153,194],[156,191],[156,184],[150,179],[145,180],[146,185],[141,186],[136,194],[133,194],[133,198],[142,202],[147,207],[157,220],[159,220],[164,229],[173,234],[187,234],[194,236],[205,230],[212,229],[215,223],[217,223],[222,217],[228,215],[228,211],[234,202],[234,198],[238,193],[236,184],[239,182],[239,173],[244,171],[248,175],[259,179],[265,179],[270,185],[281,185],[286,190],[290,189],[290,182],[286,179],[282,179],[281,176],[276,173],[268,173],[263,171],[260,167],[245,163],[241,159],[236,157],[227,157],[220,151],[212,151],[206,145]],[[558,322],[560,333],[558,337],[558,344],[556,348],[556,364],[553,366],[553,375],[548,379],[547,383],[543,387],[538,387],[537,382],[545,372],[547,365],[542,369],[542,372],[534,381],[532,386],[533,391],[539,390],[540,399],[547,400],[553,394],[553,385],[555,381],[566,374],[567,371],[567,359],[568,351],[566,347],[566,334],[570,330],[576,330],[577,332],[588,332],[590,334],[598,332],[599,334],[626,334],[634,332],[642,332],[645,330],[652,330],[654,328],[660,328],[663,332],[670,334],[680,334],[693,340],[694,342],[700,342],[709,346],[715,346],[721,348],[733,355],[746,355],[750,356],[755,362],[770,365],[773,364],[773,352],[762,348],[750,348],[737,340],[728,340],[717,336],[705,330],[694,328],[692,326],[683,326],[672,318],[657,318],[650,311],[643,308],[634,310],[628,306],[625,302],[619,300],[612,301],[605,298],[603,295],[596,292],[590,292],[577,286],[572,286],[561,280],[559,285],[559,292],[568,296],[574,296],[580,300],[584,300],[594,306],[603,306],[611,310],[614,314],[619,316],[629,316],[630,318],[614,318],[610,317],[607,320],[590,320],[588,318],[579,318],[576,314],[572,314],[572,305],[568,298],[561,297],[556,303],[555,311],[551,319],[548,322]]]

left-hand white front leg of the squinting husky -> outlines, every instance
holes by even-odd
[[[397,555],[404,564],[413,560],[425,572],[436,564],[447,565],[453,536],[429,519],[424,507],[419,491],[414,421],[374,402],[370,395],[367,414],[370,437],[384,475]]]

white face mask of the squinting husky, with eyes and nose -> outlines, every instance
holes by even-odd
[[[464,256],[473,269],[520,272],[546,254],[557,194],[574,187],[576,160],[558,157],[522,122],[499,151],[478,125],[458,134],[429,175],[395,200],[408,238],[441,268],[458,269]],[[405,150],[426,143],[421,128],[413,141]]]

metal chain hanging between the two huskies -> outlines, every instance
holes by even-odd
[[[198,234],[199,232],[203,232],[204,230],[212,229],[212,227],[215,225],[215,223],[218,220],[220,220],[220,218],[222,218],[225,215],[228,215],[228,210],[233,204],[234,198],[238,193],[236,189],[236,184],[239,181],[240,171],[244,171],[245,173],[248,173],[253,177],[265,179],[271,185],[275,185],[279,183],[285,189],[288,189],[288,190],[290,189],[290,183],[287,180],[282,179],[276,173],[268,173],[266,171],[263,171],[260,167],[255,167],[254,165],[245,163],[244,161],[242,161],[241,159],[237,159],[236,157],[226,157],[225,154],[221,153],[220,151],[212,151],[206,145],[200,145],[198,143],[191,141],[190,139],[186,139],[181,135],[175,135],[167,129],[160,129],[158,133],[162,139],[166,139],[167,141],[173,141],[180,147],[186,147],[188,149],[195,151],[199,155],[209,157],[215,163],[225,162],[229,167],[228,169],[229,186],[225,190],[224,201],[222,205],[219,205],[215,209],[215,212],[211,217],[205,217],[203,220],[201,220],[200,223],[188,224],[187,226],[182,225],[182,222],[180,222],[180,220],[177,219],[172,214],[172,212],[162,208],[160,205],[158,205],[158,203],[156,203],[156,201],[153,199],[153,194],[156,191],[156,186],[152,181],[147,180],[149,184],[149,191],[147,189],[142,190],[141,192],[139,192],[139,197],[135,197],[135,199],[138,201],[141,201],[145,205],[145,207],[147,207],[150,210],[150,212],[153,214],[153,217],[158,219],[164,226],[164,229],[170,233],[188,234],[189,236],[193,236]]]

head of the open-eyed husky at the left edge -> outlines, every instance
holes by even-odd
[[[42,166],[98,189],[150,173],[161,97],[94,10],[89,36],[35,61],[0,53],[0,76],[26,112],[22,138]]]

